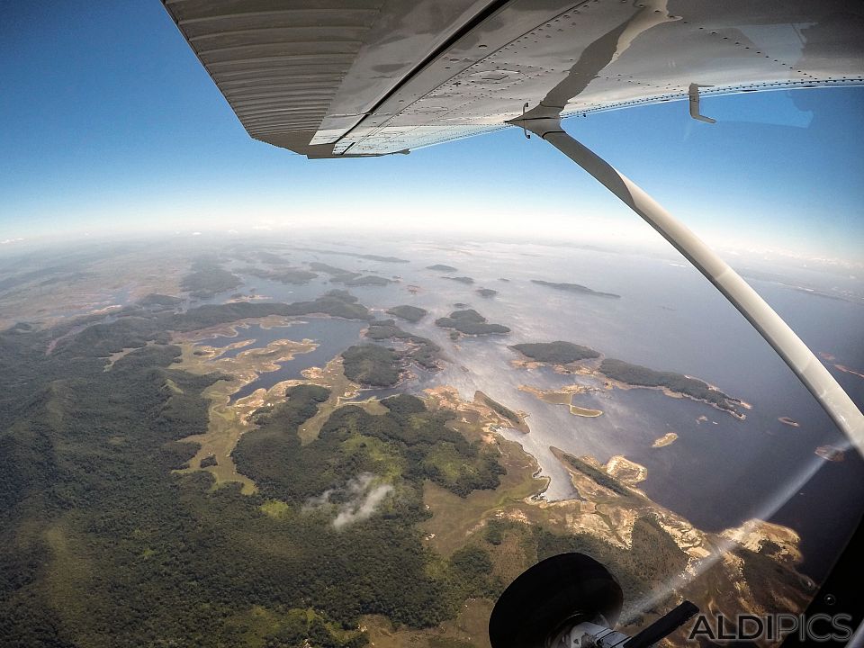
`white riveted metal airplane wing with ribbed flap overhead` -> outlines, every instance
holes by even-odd
[[[407,152],[702,94],[864,83],[859,0],[163,0],[249,135]]]

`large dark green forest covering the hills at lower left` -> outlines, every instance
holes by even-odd
[[[362,309],[345,295],[323,300],[336,302]],[[432,626],[467,593],[491,591],[473,584],[473,554],[431,553],[417,525],[428,517],[423,482],[463,497],[495,488],[497,451],[469,443],[413,397],[383,401],[381,416],[343,407],[301,446],[297,426],[328,394],[294,388],[237,448],[238,469],[259,485],[253,496],[214,491],[207,473],[172,472],[194,454],[178,440],[205,431],[202,391],[222,376],[172,368],[180,350],[159,327],[229,321],[250,308],[297,309],[131,309],[89,326],[0,332],[4,646],[358,646],[360,615]],[[103,356],[126,347],[141,348],[105,371]],[[366,474],[387,496],[335,527],[350,485]]]

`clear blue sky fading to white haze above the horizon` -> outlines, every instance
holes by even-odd
[[[354,225],[547,238],[653,233],[516,129],[320,160],[249,139],[157,0],[0,10],[0,241]],[[567,130],[719,246],[864,261],[864,88],[708,97]]]

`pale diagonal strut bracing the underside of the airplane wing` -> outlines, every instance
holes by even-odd
[[[522,118],[509,123],[530,130],[552,144],[660,232],[741,311],[864,456],[864,415],[795,331],[716,252],[625,175],[564,132],[557,115]]]

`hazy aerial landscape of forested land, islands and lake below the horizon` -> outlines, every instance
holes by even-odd
[[[4,251],[4,645],[486,647],[509,582],[570,551],[621,583],[625,632],[682,598],[803,610],[860,457],[700,276],[621,266],[397,238]],[[858,298],[763,282],[834,309],[797,323],[864,399]]]

